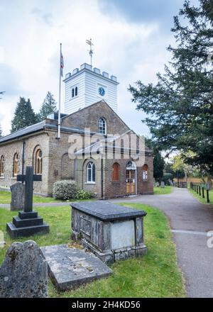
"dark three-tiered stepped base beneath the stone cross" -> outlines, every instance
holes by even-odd
[[[35,211],[19,211],[12,223],[6,223],[6,230],[11,238],[28,237],[49,232],[49,225]]]

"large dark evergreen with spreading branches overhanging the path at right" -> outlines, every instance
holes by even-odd
[[[182,18],[184,21],[182,21]],[[188,150],[185,162],[213,174],[213,0],[185,1],[172,29],[177,46],[158,83],[129,87],[161,150]]]

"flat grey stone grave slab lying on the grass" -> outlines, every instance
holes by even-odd
[[[73,289],[95,279],[108,277],[112,271],[92,252],[69,245],[40,247],[48,262],[48,273],[58,291]]]

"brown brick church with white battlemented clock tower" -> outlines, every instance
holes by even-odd
[[[33,165],[37,194],[72,180],[97,199],[153,194],[153,156],[117,115],[115,76],[83,64],[65,76],[65,113],[0,138],[0,187]]]

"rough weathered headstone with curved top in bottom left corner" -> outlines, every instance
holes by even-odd
[[[40,248],[28,240],[13,243],[0,268],[0,298],[48,297],[48,264]]]

